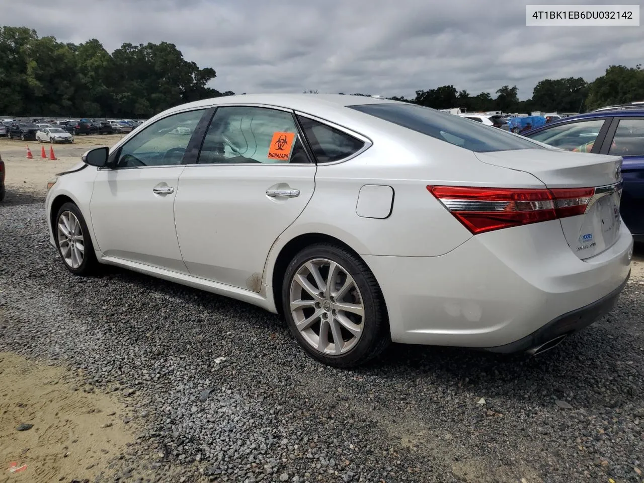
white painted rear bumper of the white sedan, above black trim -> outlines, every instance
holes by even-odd
[[[473,236],[440,256],[363,258],[394,342],[485,349],[548,334],[551,321],[610,299],[629,277],[632,246],[622,223],[612,247],[580,260],[553,220]]]

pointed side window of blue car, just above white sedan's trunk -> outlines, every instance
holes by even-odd
[[[605,119],[580,120],[553,125],[528,137],[550,146],[590,153]]]

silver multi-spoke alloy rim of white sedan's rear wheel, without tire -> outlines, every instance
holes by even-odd
[[[289,301],[297,330],[318,352],[345,354],[363,334],[363,297],[354,278],[335,261],[303,263],[290,283]]]

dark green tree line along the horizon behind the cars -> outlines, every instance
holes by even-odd
[[[207,87],[215,78],[213,68],[185,60],[171,43],[124,43],[109,53],[96,39],[62,43],[27,27],[0,27],[1,115],[145,118],[184,102],[234,95]],[[644,71],[640,64],[610,66],[592,82],[544,79],[527,100],[518,100],[516,86],[502,86],[493,97],[489,92],[470,95],[453,85],[418,90],[410,99],[388,99],[436,109],[583,112],[644,100]]]

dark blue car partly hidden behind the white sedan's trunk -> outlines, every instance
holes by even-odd
[[[644,242],[644,109],[580,114],[522,135],[568,151],[622,156],[621,218]]]

